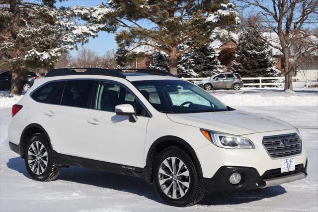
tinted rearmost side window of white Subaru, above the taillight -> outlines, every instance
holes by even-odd
[[[32,93],[31,98],[40,103],[59,105],[65,82],[51,82]]]

